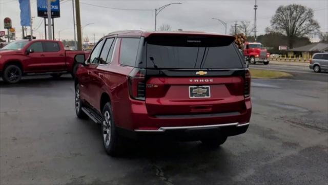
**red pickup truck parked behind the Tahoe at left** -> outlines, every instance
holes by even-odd
[[[52,40],[21,40],[0,49],[0,75],[7,83],[17,83],[24,75],[49,73],[59,78],[63,73],[74,77],[76,55],[89,56],[88,51],[69,51],[63,43]]]

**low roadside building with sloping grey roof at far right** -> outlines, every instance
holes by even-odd
[[[287,50],[289,57],[302,57],[309,59],[314,53],[328,51],[328,44],[326,43],[313,43],[301,47],[296,47]]]

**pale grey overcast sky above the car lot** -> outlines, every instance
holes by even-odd
[[[108,0],[80,0],[81,25],[86,25],[83,29],[84,38],[88,36],[93,42],[100,39],[104,34],[115,30],[142,29],[153,30],[155,11],[169,3],[182,3],[181,5],[171,5],[163,9],[157,16],[157,28],[162,24],[169,24],[172,30],[179,28],[183,30],[197,30],[224,33],[224,26],[212,17],[228,23],[227,32],[234,21],[251,21],[254,23],[254,0],[244,1],[108,1]],[[124,8],[124,9],[149,9],[146,11],[127,11],[109,8],[95,7],[87,4],[104,7]],[[258,35],[264,33],[265,27],[270,26],[271,17],[280,5],[301,4],[314,10],[314,18],[321,26],[320,30],[328,31],[328,0],[314,1],[270,1],[258,0],[257,28]],[[43,18],[37,17],[36,0],[31,0],[34,35],[44,36]],[[0,30],[4,30],[3,20],[10,17],[12,26],[16,28],[16,36],[20,39],[22,35],[19,17],[18,0],[0,0]],[[55,18],[55,38],[73,39],[73,17],[72,1],[61,0],[60,17]]]

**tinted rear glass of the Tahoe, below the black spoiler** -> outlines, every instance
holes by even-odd
[[[147,44],[147,68],[243,68],[234,43],[223,46]]]

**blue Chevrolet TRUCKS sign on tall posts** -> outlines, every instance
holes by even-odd
[[[60,17],[60,6],[59,0],[50,0],[51,1],[51,18]],[[47,0],[37,0],[37,16],[38,17],[48,17],[47,8],[48,2]]]

